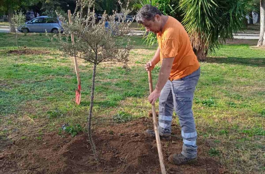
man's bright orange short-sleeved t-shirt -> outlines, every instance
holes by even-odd
[[[177,80],[188,76],[197,69],[200,64],[190,43],[190,38],[175,18],[168,16],[162,32],[157,34],[160,48],[160,61],[163,58],[175,57],[169,80]]]

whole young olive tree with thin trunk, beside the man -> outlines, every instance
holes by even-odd
[[[64,54],[84,59],[93,65],[90,110],[87,121],[89,142],[96,160],[98,160],[98,155],[91,132],[96,67],[101,62],[109,61],[123,62],[126,67],[130,51],[128,34],[132,33],[129,28],[131,22],[126,21],[126,15],[131,10],[128,9],[129,2],[125,7],[120,1],[119,4],[121,6],[119,14],[123,15],[118,15],[116,11],[113,11],[113,15],[108,16],[104,12],[102,20],[96,23],[94,1],[78,0],[76,10],[71,16],[71,24],[63,16],[60,16],[65,34],[59,32],[50,38]],[[71,33],[75,36],[74,45],[70,39]],[[47,34],[47,36],[49,35]]]

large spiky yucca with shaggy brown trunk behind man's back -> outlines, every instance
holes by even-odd
[[[225,39],[245,28],[248,0],[180,0],[183,21],[199,60],[214,52]]]

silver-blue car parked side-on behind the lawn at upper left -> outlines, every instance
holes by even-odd
[[[54,19],[48,16],[40,16],[26,22],[24,26],[18,28],[18,31],[21,31],[22,33],[41,33],[45,32],[45,30],[51,33],[58,33],[59,31],[63,32],[59,18]]]

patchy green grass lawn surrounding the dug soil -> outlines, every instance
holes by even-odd
[[[21,49],[43,52],[12,54],[15,34],[0,34],[4,41],[0,42],[0,140],[29,127],[38,133],[36,139],[41,139],[43,132],[58,131],[63,123],[85,128],[92,66],[79,60],[82,97],[78,106],[74,102],[77,80],[73,58],[63,57],[45,34],[19,34],[18,38]],[[151,108],[143,65],[155,48],[142,45],[140,37],[132,41],[129,70],[122,64],[98,66],[94,124],[112,124],[113,116],[115,120],[147,116]],[[193,105],[198,140],[208,142],[208,154],[230,172],[264,173],[265,50],[231,44],[209,56],[200,63]],[[154,84],[159,69],[152,71]],[[173,121],[178,125],[177,119]],[[31,135],[21,139],[25,136]]]

